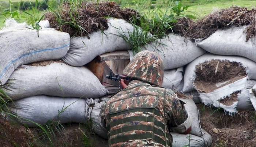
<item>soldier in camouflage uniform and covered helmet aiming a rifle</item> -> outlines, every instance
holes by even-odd
[[[124,69],[131,77],[124,88],[101,107],[101,120],[110,147],[171,147],[169,131],[187,134],[191,119],[185,107],[163,82],[163,61],[154,52],[142,51]]]

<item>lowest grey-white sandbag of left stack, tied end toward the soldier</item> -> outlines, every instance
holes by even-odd
[[[86,123],[90,119],[91,103],[94,103],[93,99],[38,95],[14,101],[9,104],[9,109],[13,114],[23,118],[17,119],[20,123],[28,127],[36,127],[33,122],[41,125],[49,121],[60,121],[61,124]],[[61,112],[62,110],[64,112]]]

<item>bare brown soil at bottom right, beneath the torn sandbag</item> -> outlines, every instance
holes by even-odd
[[[256,112],[229,116],[221,109],[197,104],[202,128],[212,136],[212,147],[256,147]],[[217,128],[218,134],[212,129]]]

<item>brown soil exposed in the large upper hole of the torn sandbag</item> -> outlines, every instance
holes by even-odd
[[[215,70],[218,65],[217,72]],[[217,88],[226,86],[246,77],[245,68],[241,63],[212,60],[196,65],[194,85],[201,93],[210,93]]]

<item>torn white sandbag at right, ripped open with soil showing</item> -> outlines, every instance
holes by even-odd
[[[193,61],[191,64],[195,65],[194,68],[190,65],[187,68],[194,69],[192,85],[199,92],[202,102],[223,108],[225,112],[232,115],[237,110],[253,109],[249,99],[249,88],[256,81],[248,80],[248,77],[254,76],[253,68],[256,63],[242,57],[236,59],[233,57],[235,60],[230,58],[230,56],[220,58],[220,56],[211,55],[205,57],[207,60],[204,62],[193,64]]]

